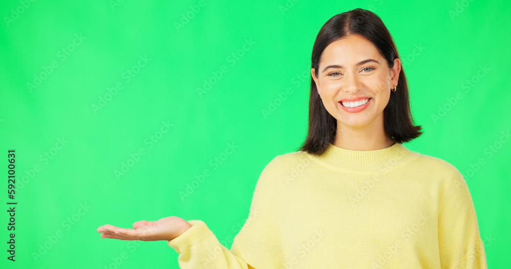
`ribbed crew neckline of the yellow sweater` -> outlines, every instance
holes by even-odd
[[[329,143],[327,150],[321,156],[307,155],[316,162],[334,169],[378,172],[391,170],[420,154],[408,150],[401,143],[394,143],[388,148],[374,151],[346,150]]]

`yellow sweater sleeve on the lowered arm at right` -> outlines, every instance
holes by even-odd
[[[440,188],[438,245],[442,269],[487,268],[472,197],[455,168]]]

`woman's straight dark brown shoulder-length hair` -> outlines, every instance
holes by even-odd
[[[337,14],[324,23],[312,47],[311,68],[318,77],[319,61],[324,49],[332,42],[356,34],[373,43],[382,57],[387,60],[389,68],[394,66],[394,59],[399,58],[396,44],[378,15],[364,10],[354,9]],[[408,84],[405,71],[401,67],[398,89],[391,92],[387,106],[383,110],[384,126],[387,136],[398,143],[408,142],[419,137],[421,126],[414,126],[410,112]],[[298,150],[321,155],[329,143],[333,142],[337,130],[337,120],[324,108],[311,76],[311,93],[309,99],[309,129],[307,138]]]

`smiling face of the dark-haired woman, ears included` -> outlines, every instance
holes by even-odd
[[[400,70],[399,59],[389,69],[375,45],[350,35],[329,44],[321,55],[317,78],[314,68],[311,73],[323,105],[337,119],[338,128],[341,124],[370,130],[383,128],[383,109],[390,89],[398,84]]]

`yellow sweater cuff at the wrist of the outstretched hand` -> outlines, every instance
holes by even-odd
[[[169,246],[179,254],[193,244],[202,241],[207,236],[214,236],[213,232],[207,228],[203,221],[192,219],[191,221],[188,221],[188,223],[191,224],[192,227],[176,238],[167,241]]]

